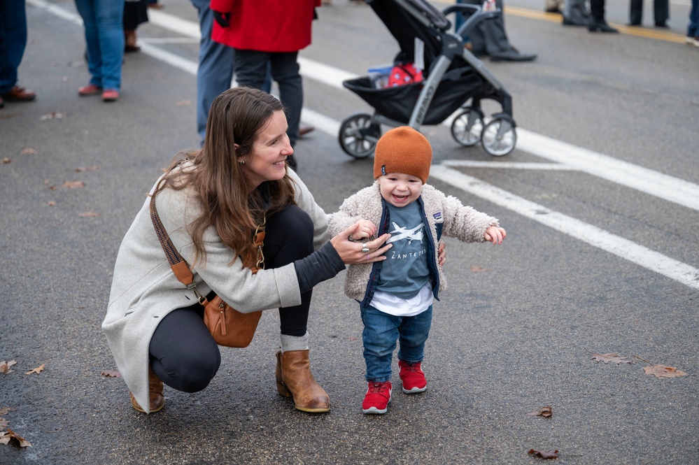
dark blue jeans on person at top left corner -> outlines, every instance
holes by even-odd
[[[15,87],[25,47],[27,10],[24,0],[0,0],[0,95]]]

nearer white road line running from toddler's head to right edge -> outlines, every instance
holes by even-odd
[[[643,245],[615,236],[604,229],[550,210],[538,203],[523,199],[511,192],[507,192],[506,190],[444,165],[432,166],[432,169],[430,169],[430,176],[434,176],[453,187],[463,189],[466,192],[493,202],[496,205],[508,208],[520,215],[528,217],[530,220],[545,224],[548,227],[612,253],[629,262],[660,273],[672,280],[682,282],[682,284],[693,287],[694,289],[699,289],[699,269],[693,266],[678,262],[675,259],[650,250]]]

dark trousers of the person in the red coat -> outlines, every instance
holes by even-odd
[[[279,99],[288,108],[289,128],[286,134],[292,147],[299,137],[301,109],[304,106],[304,89],[297,55],[298,52],[257,50],[236,50],[235,54],[236,80],[239,85],[262,89],[268,66],[271,66],[271,77],[279,86]]]

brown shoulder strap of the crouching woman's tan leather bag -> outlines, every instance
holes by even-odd
[[[153,227],[155,228],[155,234],[157,234],[158,241],[162,246],[163,252],[165,252],[165,257],[167,257],[167,262],[170,264],[172,272],[175,273],[175,277],[179,282],[181,282],[187,289],[192,289],[195,294],[197,294],[197,300],[202,305],[206,304],[206,297],[199,294],[197,290],[197,283],[194,282],[194,275],[192,275],[192,270],[190,269],[185,259],[182,258],[180,252],[177,251],[175,245],[170,240],[170,236],[167,234],[165,227],[160,220],[160,216],[157,214],[157,208],[155,208],[155,193],[158,192],[160,184],[153,191],[153,195],[150,196],[150,220],[153,222]],[[264,227],[267,224],[267,215],[262,217],[262,224],[255,229],[255,236],[253,236],[253,244],[255,249],[257,249],[257,262],[254,267],[251,267],[253,274],[257,273],[258,270],[264,268],[264,255],[262,254],[262,247],[264,246]],[[260,230],[261,229],[261,230]]]

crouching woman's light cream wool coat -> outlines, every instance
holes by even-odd
[[[313,246],[318,250],[330,240],[327,216],[296,173],[291,170],[288,173],[295,183],[298,206],[313,220]],[[102,322],[122,378],[141,406],[149,405],[148,346],[155,327],[172,310],[197,301],[194,292],[186,289],[170,269],[150,220],[149,204],[150,197],[119,248],[107,314]],[[185,227],[199,213],[197,199],[187,189],[164,189],[156,196],[156,208],[172,243],[191,267],[195,247]],[[301,303],[294,264],[260,270],[253,275],[243,268],[236,252],[221,242],[216,229],[210,227],[205,231],[204,241],[206,264],[192,268],[202,295],[213,290],[242,313]]]

